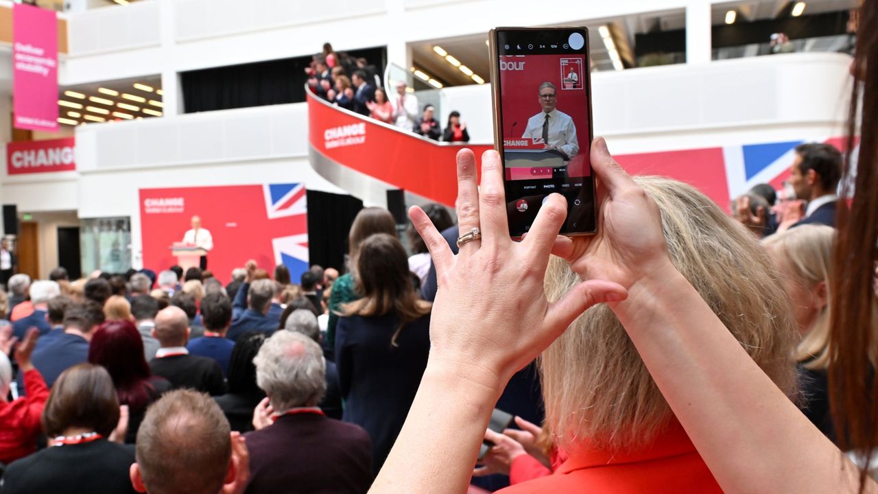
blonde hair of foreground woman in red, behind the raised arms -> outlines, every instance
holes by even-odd
[[[759,367],[792,396],[795,320],[766,251],[694,187],[669,178],[635,181],[659,206],[673,265]],[[580,282],[565,261],[551,259],[549,300],[557,301]],[[584,442],[609,449],[642,447],[673,420],[637,348],[604,304],[579,316],[543,352],[539,367],[546,423],[568,452]]]

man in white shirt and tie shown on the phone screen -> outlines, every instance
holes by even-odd
[[[565,161],[569,161],[579,153],[579,141],[573,119],[558,111],[558,90],[555,84],[540,84],[539,102],[543,109],[530,117],[522,138],[530,139],[534,144],[543,144],[543,149],[555,151]]]

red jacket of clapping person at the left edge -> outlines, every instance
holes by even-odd
[[[10,403],[0,403],[0,461],[9,464],[36,451],[42,432],[40,416],[49,398],[46,381],[36,369],[25,372],[25,392]]]

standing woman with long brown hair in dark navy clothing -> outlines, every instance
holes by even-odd
[[[342,306],[335,363],[344,420],[369,432],[378,474],[427,367],[431,304],[415,292],[406,250],[396,236],[376,234],[363,241],[356,273],[363,298]]]

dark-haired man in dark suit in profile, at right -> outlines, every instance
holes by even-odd
[[[789,183],[793,185],[796,198],[807,200],[808,207],[805,217],[790,228],[807,224],[835,226],[836,191],[842,161],[841,152],[830,144],[808,142],[796,146]]]

